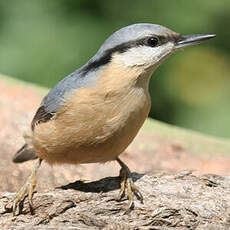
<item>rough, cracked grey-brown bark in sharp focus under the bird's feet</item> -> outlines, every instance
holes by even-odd
[[[34,214],[25,199],[21,214],[12,216],[0,199],[0,226],[10,229],[230,229],[230,177],[191,171],[133,173],[144,195],[133,210],[115,200],[118,177],[74,183],[34,194]]]

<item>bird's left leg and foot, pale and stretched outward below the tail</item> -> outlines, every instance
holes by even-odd
[[[33,198],[34,189],[35,189],[36,183],[37,183],[36,175],[37,175],[37,171],[41,165],[41,162],[42,162],[42,159],[39,159],[38,162],[35,164],[34,168],[32,169],[32,172],[31,172],[30,176],[27,178],[25,184],[16,193],[14,198],[5,206],[6,210],[10,209],[13,212],[13,215],[15,215],[17,207],[24,200],[24,197],[26,195],[28,195],[30,210],[31,210],[31,212],[33,211],[32,198]],[[8,208],[7,207],[8,205],[11,205],[11,207]]]

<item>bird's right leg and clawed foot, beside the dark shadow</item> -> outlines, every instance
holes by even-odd
[[[132,208],[134,205],[133,201],[133,193],[143,202],[143,196],[139,191],[138,187],[133,183],[131,178],[131,172],[128,166],[120,160],[120,158],[116,158],[117,162],[121,166],[120,170],[120,178],[121,178],[121,189],[118,195],[118,200],[125,195],[129,200],[129,208]]]

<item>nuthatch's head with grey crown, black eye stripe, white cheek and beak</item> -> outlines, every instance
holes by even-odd
[[[96,69],[110,62],[117,62],[142,71],[154,70],[176,50],[213,37],[214,34],[181,35],[156,24],[133,24],[113,33],[86,68]]]

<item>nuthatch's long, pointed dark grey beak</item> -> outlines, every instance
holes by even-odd
[[[180,49],[186,46],[196,45],[210,38],[216,37],[215,34],[190,34],[182,35],[180,39],[176,41],[175,48]]]

